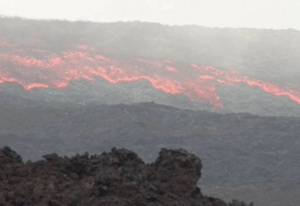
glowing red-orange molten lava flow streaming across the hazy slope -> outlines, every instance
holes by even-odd
[[[0,83],[18,82],[24,89],[65,87],[70,80],[94,80],[100,76],[111,83],[148,80],[166,93],[182,94],[193,101],[207,101],[221,107],[215,84],[234,86],[244,82],[274,95],[287,95],[300,104],[300,91],[279,87],[244,76],[233,70],[189,65],[171,60],[153,60],[110,54],[105,56],[88,45],[74,45],[64,52],[21,49],[0,41]]]

